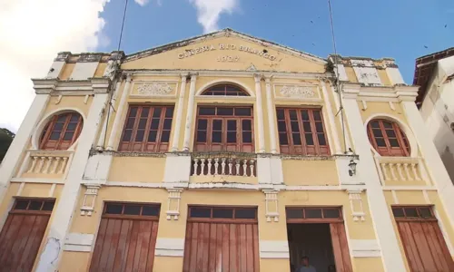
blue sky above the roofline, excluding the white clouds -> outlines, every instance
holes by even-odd
[[[192,4],[151,0],[142,6],[130,1],[122,50],[133,53],[202,34]],[[392,57],[406,83],[412,83],[417,57],[454,46],[452,0],[332,0],[331,4],[338,53]],[[98,51],[116,49],[123,5],[112,0],[105,6],[103,34],[110,43],[98,46]],[[218,25],[321,57],[333,53],[324,0],[239,0],[232,13],[220,16]]]

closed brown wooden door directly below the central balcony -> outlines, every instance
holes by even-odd
[[[239,208],[190,208],[183,271],[259,271],[256,211]]]

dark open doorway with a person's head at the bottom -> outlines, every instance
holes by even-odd
[[[308,257],[310,265],[315,267],[317,272],[335,271],[329,223],[289,223],[287,224],[287,238],[291,272],[299,271],[302,257]]]

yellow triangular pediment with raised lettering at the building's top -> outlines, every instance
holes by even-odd
[[[325,63],[309,53],[227,28],[127,55],[122,68],[324,73]]]

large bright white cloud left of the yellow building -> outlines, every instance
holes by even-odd
[[[61,51],[94,50],[109,0],[15,0],[0,3],[0,127],[17,131],[35,91]],[[105,39],[104,41],[105,42]]]

